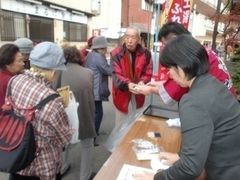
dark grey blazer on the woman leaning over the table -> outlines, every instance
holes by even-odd
[[[155,180],[240,179],[240,105],[226,86],[210,75],[195,79],[180,100],[180,159]]]

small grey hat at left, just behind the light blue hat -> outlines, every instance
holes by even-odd
[[[30,52],[33,49],[33,42],[28,38],[19,38],[16,41],[14,41],[14,44],[16,44],[23,54],[30,54]]]

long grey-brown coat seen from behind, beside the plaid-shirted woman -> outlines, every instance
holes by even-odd
[[[79,103],[79,138],[96,137],[93,72],[78,64],[68,63],[61,75],[61,85],[69,85]]]

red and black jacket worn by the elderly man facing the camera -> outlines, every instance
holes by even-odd
[[[113,68],[113,85],[112,96],[113,103],[116,108],[123,112],[128,113],[128,104],[131,100],[132,93],[128,90],[128,83],[138,83],[143,81],[148,83],[152,76],[152,58],[151,53],[142,48],[140,45],[136,49],[136,59],[134,71],[131,71],[127,50],[125,45],[118,47],[111,52],[111,65]],[[133,74],[131,74],[133,73]],[[135,95],[137,108],[144,104],[144,95]]]

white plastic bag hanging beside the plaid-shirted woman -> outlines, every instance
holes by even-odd
[[[69,104],[65,108],[65,111],[68,115],[69,124],[74,130],[72,139],[70,141],[71,144],[75,144],[79,142],[79,139],[78,139],[79,120],[78,120],[78,113],[77,113],[78,106],[79,104],[78,102],[76,102],[74,94],[72,93],[72,91],[70,91]]]

